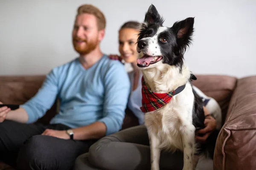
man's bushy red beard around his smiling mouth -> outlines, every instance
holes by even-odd
[[[79,44],[77,41],[82,41],[82,43]],[[80,55],[89,54],[97,47],[98,43],[99,42],[97,38],[91,40],[90,42],[87,42],[87,40],[82,40],[76,37],[73,38],[73,46]]]

